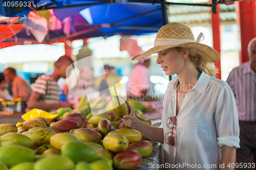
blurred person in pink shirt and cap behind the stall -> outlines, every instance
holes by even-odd
[[[143,58],[139,60],[131,72],[130,81],[128,84],[129,95],[141,99],[146,98],[149,87],[148,67],[150,66],[150,58]],[[143,96],[142,96],[143,95]]]

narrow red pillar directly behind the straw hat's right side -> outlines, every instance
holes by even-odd
[[[212,37],[214,41],[214,49],[221,54],[221,36],[220,36],[220,17],[219,17],[219,5],[216,6],[217,14],[211,13],[211,28]],[[221,79],[221,60],[215,63],[216,68],[219,70],[217,73],[217,78]]]

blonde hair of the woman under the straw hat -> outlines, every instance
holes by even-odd
[[[175,47],[177,51],[182,51],[183,47]],[[195,67],[204,71],[205,74],[216,77],[218,69],[215,67],[214,63],[206,55],[201,53],[197,48],[188,48],[189,58],[194,63]]]

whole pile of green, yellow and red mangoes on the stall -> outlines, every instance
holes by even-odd
[[[151,125],[135,109],[137,118]],[[140,132],[127,127],[114,112],[62,113],[23,126],[0,125],[0,169],[111,170],[131,169],[153,149]]]

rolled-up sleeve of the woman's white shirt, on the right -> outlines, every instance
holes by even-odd
[[[227,145],[232,148],[240,148],[236,100],[228,85],[220,89],[218,93],[215,116],[218,146],[222,147],[223,145]]]

